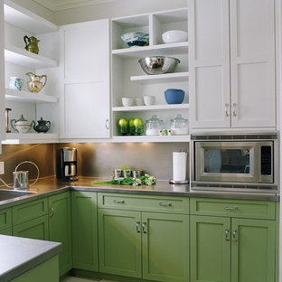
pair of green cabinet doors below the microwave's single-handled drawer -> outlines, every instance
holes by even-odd
[[[191,282],[275,279],[275,221],[191,216]]]

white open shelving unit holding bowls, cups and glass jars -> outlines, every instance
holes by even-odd
[[[162,33],[179,29],[188,30],[187,8],[137,14],[111,20],[111,61],[112,61],[112,132],[115,142],[187,142],[190,136],[121,136],[118,131],[119,118],[142,118],[146,120],[156,115],[164,121],[164,128],[170,128],[170,120],[181,114],[189,116],[188,98],[188,42],[164,43]],[[149,44],[144,47],[128,48],[121,40],[124,33],[149,33]],[[138,60],[147,56],[169,56],[181,62],[174,73],[147,75]],[[164,99],[165,89],[183,89],[182,104],[168,105]],[[123,107],[122,97],[143,99],[155,96],[155,105]]]

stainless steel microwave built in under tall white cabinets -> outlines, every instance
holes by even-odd
[[[277,191],[277,134],[192,136],[192,190]]]

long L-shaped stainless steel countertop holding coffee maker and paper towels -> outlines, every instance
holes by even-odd
[[[263,201],[279,201],[279,195],[267,193],[228,193],[228,192],[191,192],[189,184],[171,184],[168,181],[157,181],[153,186],[131,186],[131,185],[111,185],[111,184],[95,184],[93,180],[106,180],[92,177],[80,177],[75,182],[61,182],[54,176],[39,179],[39,181],[30,186],[29,191],[35,192],[22,197],[1,201],[0,206],[5,208],[13,206],[21,202],[31,201],[36,198],[46,197],[52,194],[61,193],[69,190],[95,191],[104,193],[134,193],[147,195],[162,196],[181,196],[181,197],[206,197],[221,199],[238,199],[238,200],[263,200]],[[110,179],[107,179],[110,180]],[[0,188],[6,189],[5,186]]]

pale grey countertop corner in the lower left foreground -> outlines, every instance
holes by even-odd
[[[0,235],[0,281],[10,281],[60,251],[58,242]]]

